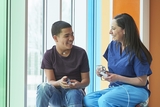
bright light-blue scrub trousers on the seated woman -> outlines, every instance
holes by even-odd
[[[85,107],[135,107],[148,99],[148,91],[132,85],[119,85],[87,94]]]

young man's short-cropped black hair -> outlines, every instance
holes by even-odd
[[[52,24],[51,33],[52,36],[61,33],[61,29],[71,27],[71,25],[65,21],[57,21]]]

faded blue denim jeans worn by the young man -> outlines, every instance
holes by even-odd
[[[36,107],[82,107],[83,98],[82,89],[55,88],[42,83],[37,87]]]

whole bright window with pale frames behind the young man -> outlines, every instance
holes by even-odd
[[[27,107],[36,107],[37,85],[46,81],[41,70],[42,57],[55,44],[51,25],[57,20],[70,23],[75,34],[74,44],[86,49],[86,0],[28,0],[27,19]]]

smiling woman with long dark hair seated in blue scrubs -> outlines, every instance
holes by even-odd
[[[134,19],[126,13],[112,20],[109,32],[113,40],[104,53],[108,61],[109,88],[89,93],[84,98],[86,107],[135,107],[145,102],[150,91],[147,77],[152,74],[152,56],[139,38]],[[99,71],[96,72],[101,76]]]

